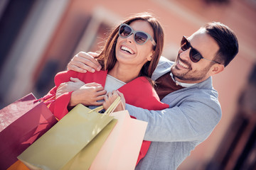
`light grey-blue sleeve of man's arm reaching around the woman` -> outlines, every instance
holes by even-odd
[[[218,101],[209,103],[203,98],[201,101],[190,98],[162,111],[149,111],[129,104],[126,109],[130,115],[148,122],[144,140],[154,142],[203,141],[221,117]]]

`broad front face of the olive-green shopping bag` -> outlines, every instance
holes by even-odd
[[[62,169],[113,118],[78,104],[18,159],[30,169]]]

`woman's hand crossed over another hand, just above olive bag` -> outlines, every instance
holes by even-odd
[[[78,103],[85,106],[100,106],[105,94],[107,94],[107,91],[104,90],[101,84],[85,84],[80,89],[73,91],[69,106],[76,106]]]

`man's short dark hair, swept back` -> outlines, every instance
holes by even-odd
[[[224,64],[226,67],[231,60],[238,54],[238,39],[233,30],[225,26],[223,23],[212,22],[206,23],[203,28],[217,43],[220,49],[218,50],[215,61]]]

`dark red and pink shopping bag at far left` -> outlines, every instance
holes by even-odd
[[[0,169],[8,169],[27,147],[49,130],[57,120],[33,94],[0,110]]]

